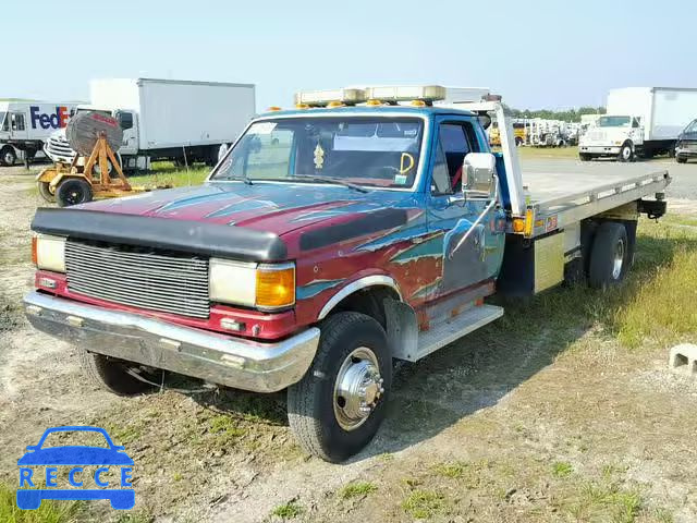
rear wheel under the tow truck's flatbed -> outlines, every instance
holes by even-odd
[[[632,262],[632,248],[627,230],[616,221],[606,221],[598,227],[590,251],[588,284],[606,290],[619,284]]]

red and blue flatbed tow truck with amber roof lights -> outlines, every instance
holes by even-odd
[[[622,284],[639,215],[667,210],[665,170],[523,173],[501,101],[443,97],[301,93],[200,186],[38,209],[29,321],[117,394],[164,372],[285,390],[301,446],[345,460],[387,415],[393,361],[494,321],[497,295]]]

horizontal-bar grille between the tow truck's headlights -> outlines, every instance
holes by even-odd
[[[208,259],[124,245],[65,244],[68,289],[122,305],[207,318]]]

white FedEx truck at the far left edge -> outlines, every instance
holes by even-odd
[[[0,101],[0,165],[34,158],[49,136],[64,129],[77,102]]]

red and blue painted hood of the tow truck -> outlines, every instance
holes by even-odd
[[[315,184],[210,182],[105,199],[80,208],[245,227],[283,235],[319,221],[415,207],[411,193]]]

